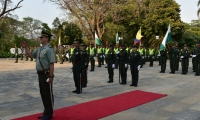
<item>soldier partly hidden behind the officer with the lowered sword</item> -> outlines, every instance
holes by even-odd
[[[89,64],[89,55],[86,50],[86,45],[81,43],[81,56],[82,56],[82,72],[81,72],[81,79],[82,79],[82,87],[87,87],[87,69]]]

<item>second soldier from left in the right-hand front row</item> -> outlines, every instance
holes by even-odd
[[[177,55],[179,54],[178,50],[175,47],[175,44],[172,45],[172,48],[169,51],[169,54],[170,54],[170,68],[171,68],[170,74],[175,74],[176,59],[177,59]]]

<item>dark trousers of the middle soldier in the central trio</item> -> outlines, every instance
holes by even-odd
[[[126,84],[127,68],[125,68],[125,62],[119,62],[119,72],[120,72],[122,83]]]

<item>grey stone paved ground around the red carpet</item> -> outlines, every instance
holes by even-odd
[[[168,94],[162,99],[135,107],[101,120],[200,120],[200,77],[194,76],[189,66],[188,75],[181,75],[181,68],[176,74],[159,73],[160,66],[148,67],[147,62],[140,70],[138,87],[130,87],[131,76],[128,71],[128,84],[118,84],[118,70],[115,70],[114,83],[108,84],[107,69],[95,68],[88,72],[88,87],[83,94],[73,94],[74,83],[71,63],[55,64],[54,95],[55,108],[83,103],[99,98],[116,95],[132,90],[144,90]],[[13,59],[0,59],[0,119],[30,115],[43,111],[38,89],[35,63]],[[62,80],[63,82],[59,84]]]

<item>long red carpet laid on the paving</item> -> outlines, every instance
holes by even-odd
[[[100,118],[134,108],[167,95],[131,91],[99,100],[81,103],[55,110],[53,120],[98,120]],[[37,120],[40,114],[34,114],[15,120]]]

